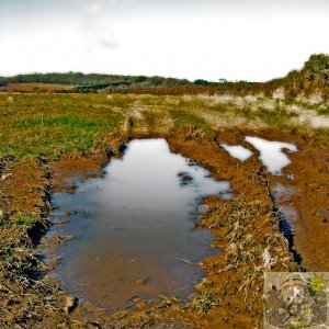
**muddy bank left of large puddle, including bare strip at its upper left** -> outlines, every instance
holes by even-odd
[[[116,136],[113,139],[117,147],[123,144],[117,141]],[[112,152],[116,150],[113,148]],[[94,156],[80,156],[75,160],[67,157],[56,162],[54,168],[39,157],[0,159],[1,328],[95,327],[81,317],[75,319],[69,316],[78,305],[77,298],[65,295],[47,276],[49,266],[39,259],[35,248],[52,226],[48,220],[53,211],[50,195],[59,186],[57,182],[64,177],[69,178],[67,173],[71,170],[75,178],[63,181],[61,188],[72,190],[76,179],[101,174],[100,169],[103,161],[107,161],[109,151],[99,149]],[[75,168],[69,163],[75,163]],[[57,170],[56,166],[63,170]],[[54,170],[60,174],[57,177]]]

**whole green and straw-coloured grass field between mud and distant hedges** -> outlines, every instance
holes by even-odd
[[[306,117],[306,118],[305,118]],[[131,120],[144,133],[189,126],[291,129],[328,144],[328,110],[273,99],[121,94],[0,94],[0,156],[88,152]]]

